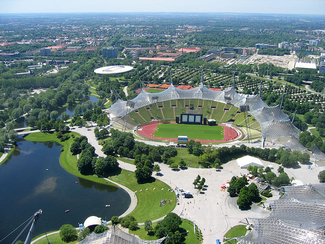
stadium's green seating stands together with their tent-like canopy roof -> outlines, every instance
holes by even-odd
[[[287,143],[288,148],[292,150],[306,149],[297,142],[298,129],[292,124],[289,116],[281,110],[283,97],[280,104],[268,106],[260,98],[261,91],[256,95],[239,94],[234,90],[235,77],[233,77],[232,87],[221,91],[211,90],[203,84],[203,72],[200,85],[193,89],[184,90],[173,86],[171,74],[169,74],[169,82],[169,87],[158,93],[149,93],[141,89],[140,93],[131,100],[134,102],[132,108],[126,106],[127,101],[118,99],[106,112],[114,122],[122,120],[129,113],[128,128],[135,128],[151,120],[175,119],[176,114],[187,112],[191,108],[199,110],[208,119],[243,126],[245,116],[242,109],[244,109],[249,114],[246,119],[251,128],[260,129],[262,145],[265,141],[269,141],[272,144]],[[172,108],[172,111],[166,108]]]

